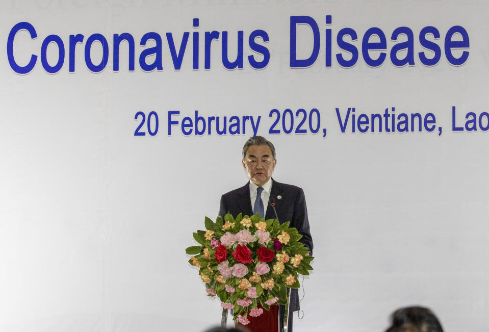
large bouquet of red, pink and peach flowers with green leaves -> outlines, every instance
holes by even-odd
[[[258,317],[270,305],[285,304],[287,287],[299,288],[297,274],[312,270],[309,249],[298,242],[302,235],[276,219],[230,214],[216,222],[205,217],[205,231],[193,233],[200,245],[186,252],[191,265],[199,268],[208,296],[218,296],[221,307],[234,309],[234,319],[243,325],[247,315]]]

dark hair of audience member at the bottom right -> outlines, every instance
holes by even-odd
[[[392,314],[392,326],[385,332],[443,332],[442,324],[431,310],[406,307]]]

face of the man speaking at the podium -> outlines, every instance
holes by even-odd
[[[250,181],[259,187],[267,183],[277,163],[272,157],[272,150],[266,144],[251,145],[242,162]]]

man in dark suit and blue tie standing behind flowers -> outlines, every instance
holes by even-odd
[[[221,197],[219,214],[227,213],[253,215],[259,213],[265,219],[275,218],[271,203],[275,203],[280,223],[290,221],[290,227],[297,228],[302,242],[313,251],[313,240],[307,219],[304,191],[296,186],[278,183],[272,172],[277,160],[275,147],[262,136],[251,137],[243,146],[243,167],[250,181],[241,188],[230,191]],[[284,308],[280,308],[283,314]],[[299,310],[299,297],[296,289],[290,294],[290,313]],[[292,315],[289,315],[289,332],[292,331]]]

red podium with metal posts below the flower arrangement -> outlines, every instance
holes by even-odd
[[[289,305],[290,305],[290,288],[287,288],[286,304],[284,304],[284,314],[279,314],[278,305],[270,305],[270,311],[263,310],[263,314],[259,317],[251,317],[249,325],[243,325],[251,330],[251,332],[287,332],[289,323]],[[262,308],[259,303],[258,308]],[[233,311],[231,310],[231,315]],[[221,327],[226,327],[228,310],[222,309]],[[269,321],[273,319],[275,321]],[[235,325],[238,325],[236,323]]]

